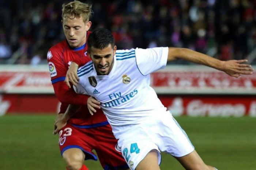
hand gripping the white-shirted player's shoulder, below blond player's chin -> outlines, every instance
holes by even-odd
[[[78,70],[78,64],[71,62],[67,74],[66,74],[66,78],[64,80],[64,82],[67,84],[68,88],[71,88],[71,85],[69,82],[71,82],[72,84],[74,84],[75,86],[79,83],[79,77],[77,74],[77,70]]]

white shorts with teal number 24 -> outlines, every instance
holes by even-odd
[[[131,170],[135,170],[151,150],[158,151],[158,164],[160,164],[160,151],[181,157],[195,149],[169,111],[157,113],[151,120],[133,125],[120,135],[118,146]]]

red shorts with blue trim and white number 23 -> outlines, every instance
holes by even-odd
[[[98,160],[92,151],[94,149],[104,170],[129,168],[116,145],[117,140],[109,124],[95,128],[67,124],[59,131],[61,155],[70,148],[79,148],[86,155],[85,160]]]

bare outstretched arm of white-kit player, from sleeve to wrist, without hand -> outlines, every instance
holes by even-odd
[[[169,48],[167,61],[182,59],[193,63],[207,65],[222,70],[223,62],[206,54],[199,53],[187,48]]]

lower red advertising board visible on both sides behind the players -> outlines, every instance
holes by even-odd
[[[175,116],[256,116],[255,96],[159,95],[158,97]],[[50,94],[4,94],[0,97],[0,115],[55,114],[58,110],[59,102]]]

